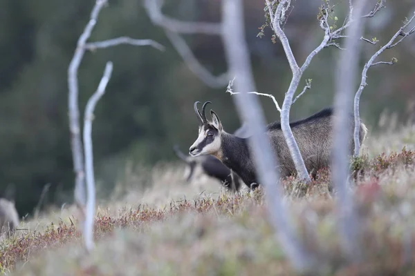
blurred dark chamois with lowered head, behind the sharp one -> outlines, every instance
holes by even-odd
[[[187,177],[186,181],[190,182],[197,173],[201,171],[205,175],[216,178],[221,181],[221,184],[234,192],[237,192],[241,187],[241,179],[238,175],[232,172],[228,167],[222,164],[222,162],[212,155],[202,155],[199,157],[191,157],[185,155],[178,149],[177,145],[174,145],[174,152],[178,158],[185,161],[187,164]]]

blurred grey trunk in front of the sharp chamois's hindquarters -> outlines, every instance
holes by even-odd
[[[350,114],[352,104],[352,90],[356,82],[355,72],[358,70],[360,56],[360,43],[358,37],[362,33],[363,23],[360,14],[366,0],[360,0],[356,6],[356,23],[348,30],[346,50],[340,53],[337,63],[336,93],[335,93],[335,116],[333,126],[333,182],[338,191],[336,204],[340,210],[340,236],[342,248],[347,255],[355,261],[360,261],[362,254],[360,250],[360,223],[354,208],[353,195],[349,188],[349,137],[350,137]],[[350,7],[353,10],[353,6]],[[351,15],[353,16],[353,15]],[[353,20],[350,18],[349,20]]]

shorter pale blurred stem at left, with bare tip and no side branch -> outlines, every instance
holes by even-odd
[[[92,121],[93,112],[98,101],[104,95],[105,88],[113,70],[113,63],[107,62],[104,75],[98,85],[98,89],[89,98],[86,103],[84,114],[84,149],[85,149],[85,173],[86,173],[86,190],[88,191],[88,201],[86,202],[86,215],[84,223],[84,242],[86,250],[91,251],[93,248],[93,223],[95,220],[95,177],[93,172],[93,150],[92,150]]]

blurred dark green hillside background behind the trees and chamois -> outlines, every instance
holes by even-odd
[[[372,1],[375,3],[376,0]],[[166,1],[167,2],[167,1]],[[336,15],[344,19],[344,4],[333,1]],[[374,19],[367,21],[367,38],[377,37],[376,46],[362,42],[361,66],[398,30],[414,9],[413,1],[387,2]],[[50,184],[46,204],[72,200],[73,164],[67,116],[67,68],[76,42],[89,20],[93,0],[2,0],[0,1],[0,193],[15,187],[19,215],[32,213],[42,189]],[[317,13],[320,0],[297,0],[285,26],[291,46],[302,63],[322,39]],[[246,39],[255,71],[257,89],[272,93],[282,102],[291,79],[279,43],[270,40],[264,23],[264,2],[244,1]],[[163,12],[177,19],[219,21],[219,0],[171,0]],[[154,39],[165,52],[150,47],[117,46],[86,52],[79,70],[80,108],[98,86],[107,61],[114,70],[107,93],[98,103],[93,122],[96,177],[111,193],[126,161],[151,166],[175,160],[172,146],[183,151],[196,137],[194,101],[212,101],[225,130],[240,125],[225,87],[212,89],[187,68],[172,48],[163,29],[154,26],[140,0],[109,0],[100,14],[89,41],[130,36]],[[214,74],[225,72],[223,46],[219,37],[185,35],[198,59]],[[362,117],[373,131],[381,112],[396,112],[399,121],[414,117],[415,39],[387,50],[382,60],[396,57],[395,66],[369,70],[369,86],[362,95]],[[235,45],[235,47],[238,47]],[[333,69],[338,49],[323,50],[311,63],[304,79],[312,88],[291,110],[299,119],[331,105]],[[304,80],[302,85],[304,84]],[[302,87],[302,85],[300,87]],[[279,120],[270,99],[261,99],[268,121]]]

